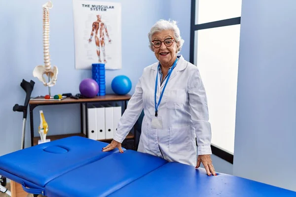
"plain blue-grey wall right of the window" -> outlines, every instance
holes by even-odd
[[[296,1],[243,0],[233,174],[296,191]]]

